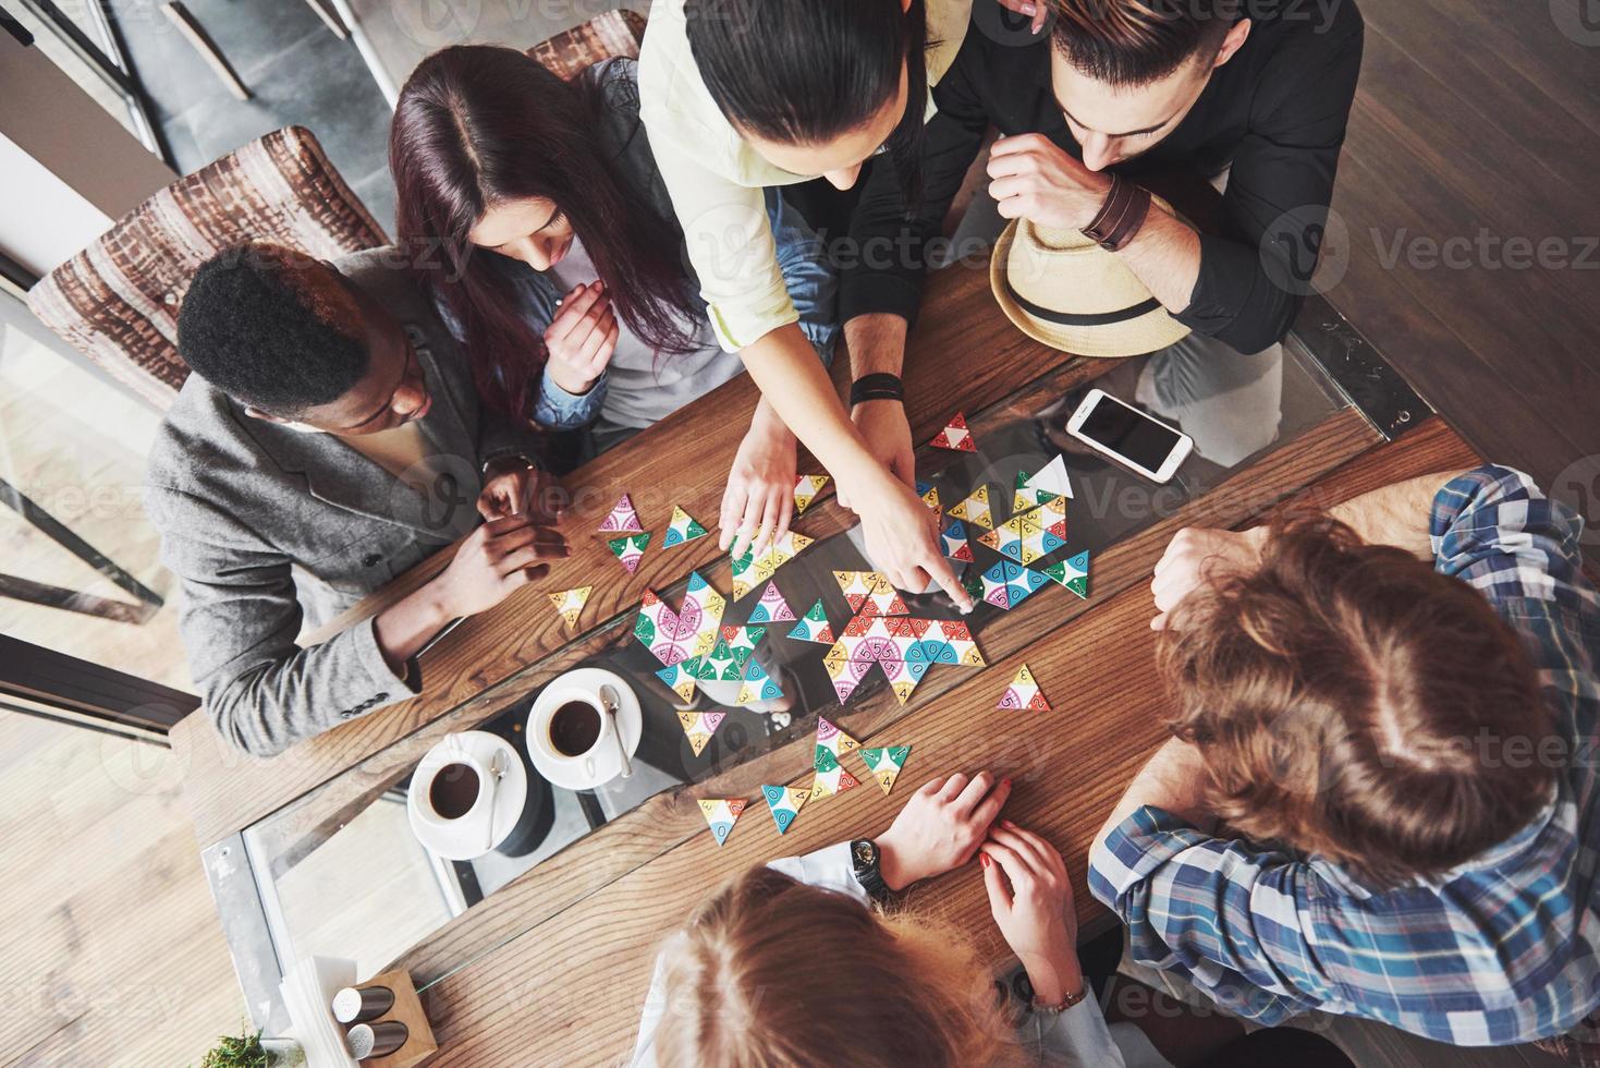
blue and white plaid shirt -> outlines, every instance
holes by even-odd
[[[1506,468],[1434,500],[1437,570],[1517,629],[1557,713],[1558,781],[1531,823],[1438,879],[1379,890],[1146,805],[1090,857],[1090,889],[1128,924],[1134,959],[1264,1025],[1322,1009],[1456,1046],[1562,1034],[1600,1006],[1600,596],[1581,533]]]

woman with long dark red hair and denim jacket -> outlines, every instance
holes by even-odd
[[[510,48],[438,51],[400,93],[389,162],[400,243],[491,407],[589,428],[598,452],[742,370],[686,266],[632,61],[568,83]],[[766,210],[800,327],[827,363],[837,282],[776,191]],[[723,548],[752,514],[766,535],[787,528],[794,487],[795,436],[762,400],[728,477]]]

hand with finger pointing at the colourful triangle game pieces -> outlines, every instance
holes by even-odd
[[[851,487],[848,498],[861,519],[867,559],[885,578],[914,594],[925,591],[931,578],[963,613],[973,610],[973,596],[957,581],[939,546],[938,516],[909,485],[874,464],[870,482]]]

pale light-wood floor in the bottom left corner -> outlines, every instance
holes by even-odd
[[[198,1063],[245,1006],[168,749],[0,711],[0,1063]]]

